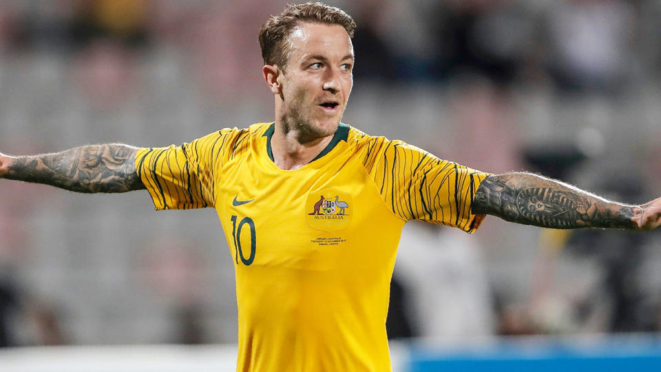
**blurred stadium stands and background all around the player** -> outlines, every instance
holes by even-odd
[[[328,3],[359,25],[346,123],[487,172],[629,203],[661,194],[661,1]],[[160,146],[271,121],[257,33],[284,5],[1,1],[0,151]],[[10,181],[0,206],[2,371],[233,370],[233,268],[213,209]],[[394,278],[396,371],[660,360],[659,232],[414,223]]]

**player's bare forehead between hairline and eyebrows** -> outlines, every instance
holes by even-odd
[[[353,56],[353,44],[342,25],[303,23],[292,30],[289,43],[292,59],[308,54]]]

